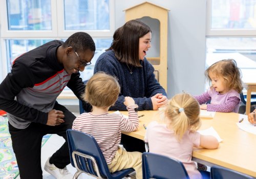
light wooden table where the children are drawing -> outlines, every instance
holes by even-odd
[[[127,115],[127,111],[121,111]],[[123,132],[126,135],[143,140],[145,129],[151,121],[159,119],[159,111],[139,111],[139,128],[134,132]],[[208,166],[219,165],[242,173],[256,177],[256,136],[238,128],[237,122],[245,115],[237,113],[216,113],[213,119],[202,118],[200,130],[209,127],[219,133],[223,141],[218,149],[195,149],[193,161],[206,164]],[[256,130],[256,127],[255,127]]]

